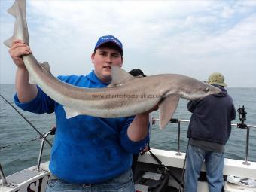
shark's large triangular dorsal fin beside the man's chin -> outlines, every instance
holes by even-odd
[[[112,81],[108,87],[116,86],[118,84],[123,84],[125,81],[133,79],[133,75],[130,75],[129,72],[126,72],[124,69],[121,69],[118,66],[111,66],[111,76]]]

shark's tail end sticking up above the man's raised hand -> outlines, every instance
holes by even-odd
[[[16,20],[14,23],[14,35],[4,42],[5,46],[11,48],[14,39],[20,39],[25,44],[29,45],[29,32],[26,24],[26,0],[15,0],[14,5],[8,9],[8,13],[14,16]],[[22,34],[18,34],[18,30],[20,30]]]

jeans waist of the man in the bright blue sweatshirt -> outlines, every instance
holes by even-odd
[[[72,191],[72,192],[134,192],[133,172],[131,169],[109,181],[100,184],[70,184],[59,179],[48,181],[46,192]]]

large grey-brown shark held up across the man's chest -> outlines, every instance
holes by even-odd
[[[8,13],[16,20],[14,35],[5,41],[5,45],[11,47],[14,39],[20,39],[29,45],[26,1],[16,0],[8,9]],[[67,118],[79,114],[104,118],[128,117],[142,114],[158,105],[160,128],[163,128],[174,114],[180,98],[201,99],[221,91],[184,75],[166,74],[134,78],[117,66],[111,67],[112,81],[108,87],[75,87],[51,75],[47,63],[40,65],[32,53],[22,56],[22,59],[29,71],[29,82],[38,84],[44,93],[63,105]]]

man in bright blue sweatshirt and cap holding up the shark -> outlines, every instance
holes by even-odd
[[[148,141],[148,111],[135,117],[66,118],[63,106],[40,87],[29,84],[29,72],[20,58],[32,53],[20,40],[9,50],[17,65],[15,104],[25,111],[56,115],[56,135],[50,154],[51,191],[134,191],[132,156]],[[94,70],[87,75],[59,76],[78,87],[101,88],[111,83],[111,66],[123,65],[123,45],[112,35],[102,36],[91,55]]]

